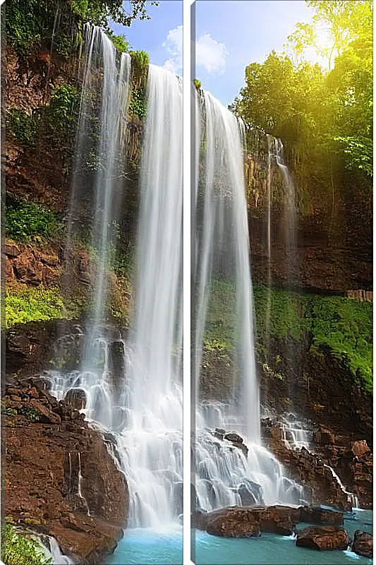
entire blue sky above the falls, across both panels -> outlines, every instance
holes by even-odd
[[[150,21],[114,24],[114,31],[147,51],[150,62],[181,74],[182,1],[160,0],[148,11]],[[197,0],[195,15],[195,78],[228,105],[244,85],[245,66],[262,62],[272,49],[282,52],[295,24],[310,21],[312,12],[304,0]]]

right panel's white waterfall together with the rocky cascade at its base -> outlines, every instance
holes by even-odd
[[[196,504],[205,510],[233,504],[296,504],[303,489],[284,476],[261,445],[259,385],[253,341],[253,298],[248,222],[243,181],[243,126],[212,95],[203,93],[198,113],[202,158],[198,162],[195,351],[197,409],[195,435]],[[202,402],[202,358],[212,305],[224,299],[232,320],[234,370],[226,402]],[[219,298],[216,294],[219,293]],[[228,321],[227,321],[228,322]],[[224,321],[222,323],[225,323]],[[214,330],[215,331],[215,330]],[[228,331],[229,333],[229,331]],[[209,429],[208,429],[209,428]],[[217,428],[215,431],[214,429]],[[248,457],[224,430],[238,432]]]

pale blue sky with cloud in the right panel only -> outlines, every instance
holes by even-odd
[[[196,42],[210,35],[213,52],[214,42],[224,46],[217,48],[217,69],[199,64],[196,54],[196,78],[224,105],[244,85],[245,66],[261,63],[272,49],[284,51],[295,24],[311,18],[303,0],[197,0],[195,11]]]

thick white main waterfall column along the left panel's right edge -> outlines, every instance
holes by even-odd
[[[183,487],[182,84],[150,65],[147,90],[128,423],[119,441],[138,526],[173,521]]]

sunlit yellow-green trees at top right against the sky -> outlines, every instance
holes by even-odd
[[[372,4],[307,4],[314,10],[313,23],[296,26],[289,37],[291,54],[272,52],[262,64],[248,65],[245,87],[231,109],[293,148],[305,177],[325,184],[333,167],[346,167],[363,173],[366,181],[372,174]],[[305,61],[312,48],[327,57],[329,71]]]

